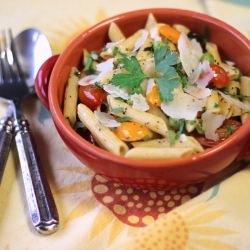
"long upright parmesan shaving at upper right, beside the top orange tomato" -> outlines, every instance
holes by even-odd
[[[195,39],[190,41],[187,35],[182,32],[178,40],[178,50],[184,71],[188,76],[191,76],[199,65],[203,54],[202,48]]]

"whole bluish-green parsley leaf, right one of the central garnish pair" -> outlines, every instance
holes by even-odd
[[[170,51],[163,42],[154,44],[155,68],[160,77],[155,80],[158,83],[159,95],[161,101],[172,101],[173,90],[181,85],[182,79],[172,66],[179,63],[179,57],[176,52]],[[162,75],[163,74],[163,75]]]

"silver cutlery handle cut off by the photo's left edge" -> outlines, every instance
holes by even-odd
[[[10,152],[13,138],[12,118],[7,117],[0,120],[0,184],[2,181],[5,165]]]

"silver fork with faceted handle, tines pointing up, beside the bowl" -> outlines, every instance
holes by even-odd
[[[21,102],[23,98],[30,94],[30,88],[25,83],[17,60],[11,30],[8,31],[8,36],[6,32],[3,32],[3,41],[2,54],[4,55],[1,57],[1,62],[4,83],[0,85],[0,96],[12,101],[15,141],[28,209],[35,229],[41,234],[51,234],[57,230],[59,224],[58,212],[48,181],[34,149],[29,122],[25,119],[21,110]]]

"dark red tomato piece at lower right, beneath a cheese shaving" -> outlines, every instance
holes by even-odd
[[[219,140],[208,140],[202,135],[197,135],[196,139],[200,142],[201,145],[211,148],[228,138],[232,133],[239,129],[240,126],[241,122],[234,119],[227,119],[224,121],[223,125],[216,130],[216,134],[218,134]]]

